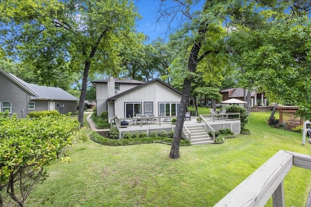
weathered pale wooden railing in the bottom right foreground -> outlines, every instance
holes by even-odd
[[[311,170],[311,156],[278,151],[214,207],[263,207],[271,196],[273,207],[285,207],[283,179],[293,166]]]

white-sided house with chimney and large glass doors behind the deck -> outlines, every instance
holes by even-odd
[[[141,114],[177,115],[181,92],[154,79],[141,82],[131,79],[93,81],[96,86],[97,114],[108,111],[108,117],[129,118]]]

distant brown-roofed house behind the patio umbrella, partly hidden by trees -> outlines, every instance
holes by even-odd
[[[229,88],[223,89],[220,91],[221,95],[223,95],[223,100],[228,100],[230,98],[236,98],[239,100],[244,100],[244,89],[242,88]],[[255,107],[257,104],[257,100],[261,100],[259,103],[260,106],[267,106],[267,99],[264,97],[262,93],[251,92],[251,107]]]

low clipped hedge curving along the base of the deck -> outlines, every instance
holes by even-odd
[[[173,139],[167,137],[147,137],[147,138],[137,138],[137,139],[108,139],[102,137],[97,132],[93,132],[90,136],[91,140],[96,143],[100,143],[103,145],[109,146],[121,146],[121,145],[134,145],[134,144],[146,144],[146,143],[164,143],[164,144],[172,144]],[[188,140],[181,140],[180,146],[190,146],[191,143]]]

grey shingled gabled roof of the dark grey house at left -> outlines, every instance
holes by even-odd
[[[24,80],[17,78],[16,76],[5,72],[0,68],[0,72],[3,73],[10,80],[15,82],[18,86],[24,89],[26,92],[30,93],[31,100],[69,100],[78,101],[79,99],[72,96],[68,92],[61,88],[41,86],[33,83],[27,83]]]

